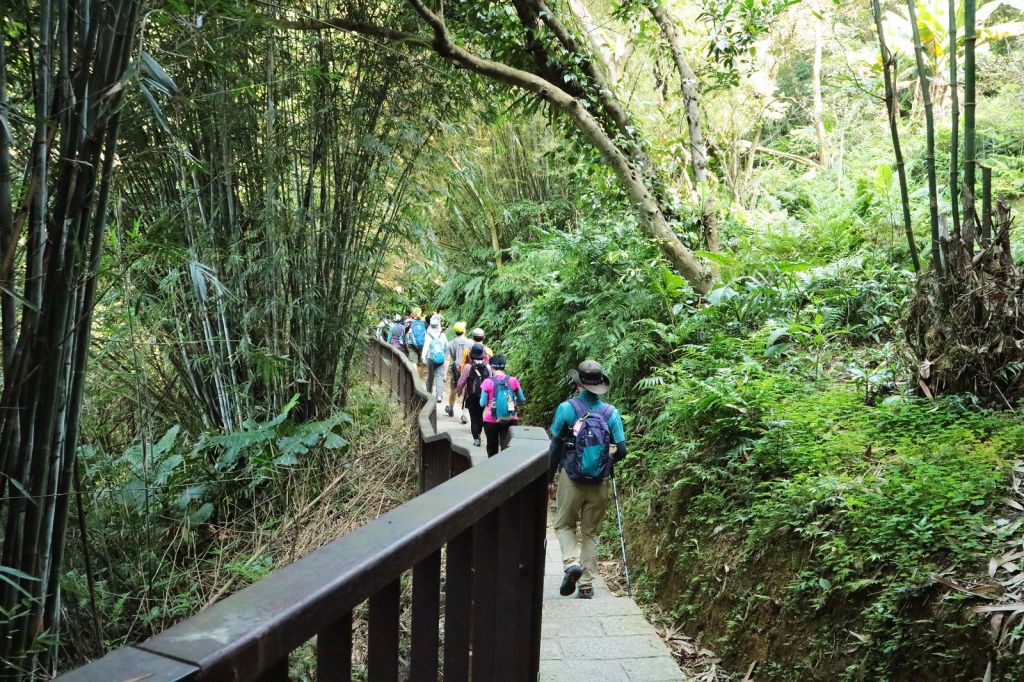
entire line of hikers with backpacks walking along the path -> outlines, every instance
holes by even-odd
[[[377,334],[384,339],[383,328]],[[466,323],[453,326],[450,341],[434,313],[429,326],[421,310],[409,317],[395,315],[387,341],[408,349],[413,361],[427,367],[427,392],[442,401],[444,367],[449,367],[450,392],[444,413],[455,417],[456,401],[462,398],[460,419],[470,424],[473,444],[480,445],[480,433],[487,439],[487,456],[506,450],[512,426],[519,423],[519,408],[525,401],[518,378],[506,373],[506,358],[484,345],[480,328],[466,337]],[[614,465],[626,457],[623,418],[613,406],[601,399],[611,388],[603,368],[584,360],[569,373],[572,395],[555,410],[551,422],[548,452],[549,497],[555,501],[554,529],[562,554],[564,576],[559,592],[580,599],[594,596],[597,576],[597,546],[601,525],[614,496]],[[468,420],[467,420],[468,414]],[[616,501],[617,504],[617,501]],[[620,538],[622,519],[620,518]],[[625,541],[623,558],[625,563]],[[629,569],[626,568],[629,585]]]

